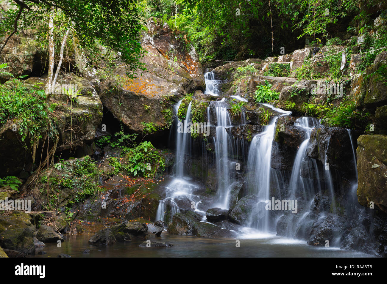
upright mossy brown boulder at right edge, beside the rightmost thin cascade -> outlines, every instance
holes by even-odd
[[[358,201],[387,213],[387,135],[361,135],[358,145]]]

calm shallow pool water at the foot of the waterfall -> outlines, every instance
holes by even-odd
[[[197,238],[176,236],[166,232],[154,240],[171,243],[173,247],[139,247],[142,241],[116,243],[107,247],[89,245],[91,235],[71,235],[58,248],[57,243],[46,243],[37,248],[32,257],[57,257],[65,253],[71,257],[372,257],[361,252],[339,248],[311,247],[306,241],[286,239],[270,234],[249,232],[240,236],[240,247],[236,239]],[[82,253],[90,250],[90,254]],[[39,251],[47,254],[38,255]]]

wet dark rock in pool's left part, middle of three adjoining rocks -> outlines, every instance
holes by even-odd
[[[117,241],[145,240],[147,226],[144,223],[124,221],[111,227]]]

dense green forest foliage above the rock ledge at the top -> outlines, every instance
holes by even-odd
[[[325,43],[336,37],[337,25],[366,31],[378,1],[371,0],[141,0],[143,19],[150,16],[178,22],[178,29],[201,58],[239,60],[265,58],[302,48],[305,39]]]

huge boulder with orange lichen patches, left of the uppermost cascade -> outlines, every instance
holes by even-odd
[[[130,79],[125,66],[120,65],[114,71],[115,79],[104,80],[99,91],[106,109],[137,133],[144,129],[143,123],[159,128],[170,126],[171,100],[176,102],[176,97],[205,88],[202,66],[193,46],[175,36],[168,25],[161,26],[161,20],[157,22],[148,20],[147,32],[141,39],[147,51],[141,61],[147,71]]]

